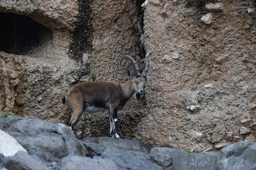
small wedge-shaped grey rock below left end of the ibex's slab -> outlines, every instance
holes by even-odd
[[[107,149],[107,146],[103,146],[103,145],[96,144],[96,143],[89,142],[89,141],[82,141],[82,143],[87,148],[87,150],[89,151],[89,154],[92,157],[100,156],[100,154],[103,153]]]

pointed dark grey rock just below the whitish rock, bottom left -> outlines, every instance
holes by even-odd
[[[9,170],[50,170],[42,162],[22,151],[5,159],[3,166]]]

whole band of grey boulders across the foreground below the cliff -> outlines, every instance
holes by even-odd
[[[255,169],[256,143],[238,142],[220,152],[194,153],[121,138],[75,138],[65,124],[0,112],[1,170]]]

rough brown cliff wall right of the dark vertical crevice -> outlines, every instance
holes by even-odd
[[[150,69],[147,114],[136,140],[196,151],[244,140],[239,127],[255,129],[256,14],[248,12],[255,1],[158,2],[143,7]],[[208,3],[222,3],[223,10],[207,10]],[[212,23],[204,24],[209,12]],[[173,53],[178,59],[164,60]],[[214,87],[203,88],[210,83]],[[196,112],[186,108],[198,104]],[[214,130],[218,125],[222,131]],[[199,141],[197,133],[203,134]]]

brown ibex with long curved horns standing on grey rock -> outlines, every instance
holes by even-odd
[[[127,69],[127,74],[131,81],[124,84],[115,81],[87,81],[72,86],[62,99],[62,103],[67,103],[71,111],[71,120],[68,126],[74,128],[77,120],[83,112],[98,112],[100,110],[108,110],[110,121],[110,137],[119,138],[116,130],[117,110],[124,107],[124,104],[136,93],[139,101],[140,95],[143,94],[146,76],[148,73],[149,60],[144,58],[140,61],[146,62],[145,69],[140,74],[137,62],[129,55],[121,58],[120,65],[124,59],[132,62],[135,76],[132,76]],[[140,65],[139,63],[139,65]]]

